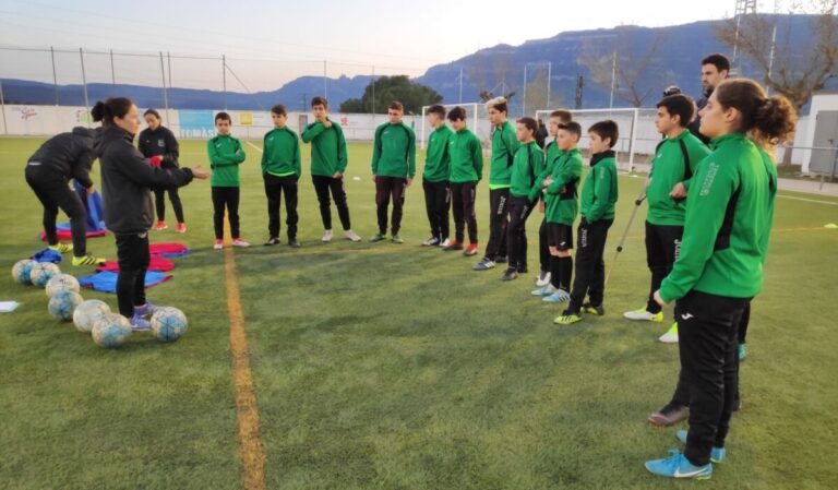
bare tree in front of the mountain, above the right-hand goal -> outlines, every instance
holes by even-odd
[[[665,36],[661,33],[649,41],[641,40],[639,29],[618,27],[611,36],[612,43],[586,39],[576,60],[588,70],[595,84],[606,92],[613,89],[614,98],[632,107],[643,106],[650,95],[666,86],[660,77],[649,76],[650,71],[662,72],[657,53]]]

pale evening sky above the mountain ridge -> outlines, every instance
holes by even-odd
[[[761,2],[761,10],[762,3],[767,2]],[[516,9],[518,4],[526,8]],[[661,2],[625,0],[3,0],[0,77],[51,82],[48,51],[7,49],[50,46],[59,51],[59,83],[81,83],[79,48],[87,51],[88,82],[115,77],[159,85],[159,52],[169,53],[163,71],[173,86],[220,88],[222,55],[229,67],[228,88],[242,92],[275,89],[300,75],[322,76],[324,68],[332,77],[370,74],[373,67],[375,74],[418,76],[434,64],[498,44],[520,45],[566,31],[718,20],[732,15],[734,4],[702,0],[661,9]]]

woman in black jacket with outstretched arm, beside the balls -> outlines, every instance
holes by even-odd
[[[148,229],[154,217],[149,189],[177,189],[193,178],[206,179],[210,172],[200,166],[194,169],[152,166],[133,144],[140,129],[140,113],[129,98],[98,101],[91,115],[104,127],[97,153],[101,164],[105,224],[117,238],[119,312],[131,320],[134,330],[148,330],[146,316],[154,309],[145,299]]]

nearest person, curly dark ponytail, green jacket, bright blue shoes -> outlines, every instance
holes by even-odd
[[[777,174],[765,147],[786,141],[797,113],[785,97],[767,97],[754,81],[728,80],[702,109],[701,131],[714,152],[698,165],[686,201],[681,253],[655,292],[675,301],[681,375],[690,430],[683,453],[646,463],[671,478],[706,479],[726,456],[738,391],[738,327],[763,288]],[[761,147],[762,146],[762,147]]]

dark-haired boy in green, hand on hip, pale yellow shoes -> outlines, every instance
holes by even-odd
[[[645,308],[627,311],[628,320],[662,322],[663,312],[653,295],[660,287],[678,259],[681,236],[684,234],[686,203],[677,192],[690,186],[693,172],[710,150],[687,126],[693,120],[695,103],[686,95],[663,97],[657,105],[655,126],[666,139],[658,144],[651,160],[649,183],[646,186],[646,263],[651,272],[651,287]],[[661,337],[662,342],[678,342],[678,324]]]

